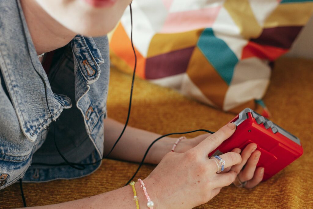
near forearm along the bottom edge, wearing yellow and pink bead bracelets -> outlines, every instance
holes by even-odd
[[[151,200],[154,201],[155,206],[157,206],[157,200],[154,192],[152,191],[153,186],[150,184],[148,180],[144,180],[147,188],[149,188],[149,195],[151,196]],[[139,206],[140,208],[147,207],[147,200],[144,196],[144,192],[140,187],[139,182],[135,184],[137,197],[139,199]],[[124,186],[120,189],[109,191],[100,195],[95,195],[91,197],[87,197],[80,200],[74,200],[70,202],[63,202],[55,205],[48,205],[48,206],[37,206],[37,207],[28,207],[28,208],[47,208],[47,209],[80,209],[80,208],[90,208],[90,209],[134,209],[136,208],[136,203],[134,201],[134,193],[130,185]]]

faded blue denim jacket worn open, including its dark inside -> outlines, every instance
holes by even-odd
[[[0,189],[19,178],[49,181],[88,175],[102,158],[110,63],[107,37],[77,35],[57,50],[49,75],[37,57],[19,0],[0,1]],[[44,84],[47,84],[46,103]],[[72,105],[73,104],[73,105]],[[54,126],[51,124],[54,123]],[[54,130],[55,127],[55,130]]]

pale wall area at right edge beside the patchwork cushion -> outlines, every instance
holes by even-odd
[[[291,50],[285,56],[313,59],[313,16],[301,30]]]

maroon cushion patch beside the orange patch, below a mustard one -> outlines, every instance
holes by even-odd
[[[164,78],[186,72],[193,49],[194,46],[148,58],[146,79]]]

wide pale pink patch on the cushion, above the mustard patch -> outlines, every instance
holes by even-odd
[[[169,13],[160,33],[181,33],[211,27],[221,6]]]

